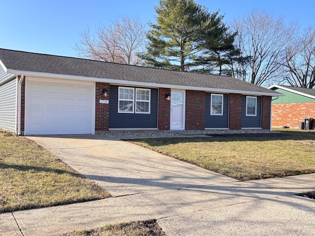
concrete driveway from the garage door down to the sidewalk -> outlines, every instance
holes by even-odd
[[[237,181],[119,139],[99,135],[27,138],[115,197]]]

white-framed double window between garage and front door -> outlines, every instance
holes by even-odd
[[[150,89],[119,87],[118,113],[150,114],[150,92]]]

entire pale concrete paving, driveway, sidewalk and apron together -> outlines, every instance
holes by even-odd
[[[315,174],[237,181],[118,139],[29,137],[114,198],[0,214],[0,236],[158,219],[168,236],[314,235]]]

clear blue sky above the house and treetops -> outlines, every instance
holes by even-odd
[[[314,0],[196,0],[210,12],[220,9],[224,20],[238,18],[253,8],[314,26]],[[135,15],[147,25],[155,21],[158,0],[1,0],[0,48],[76,57],[80,32],[108,25],[119,16]]]

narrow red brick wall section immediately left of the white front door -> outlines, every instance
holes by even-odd
[[[158,129],[169,130],[171,101],[165,99],[165,94],[171,93],[171,89],[158,89]]]

